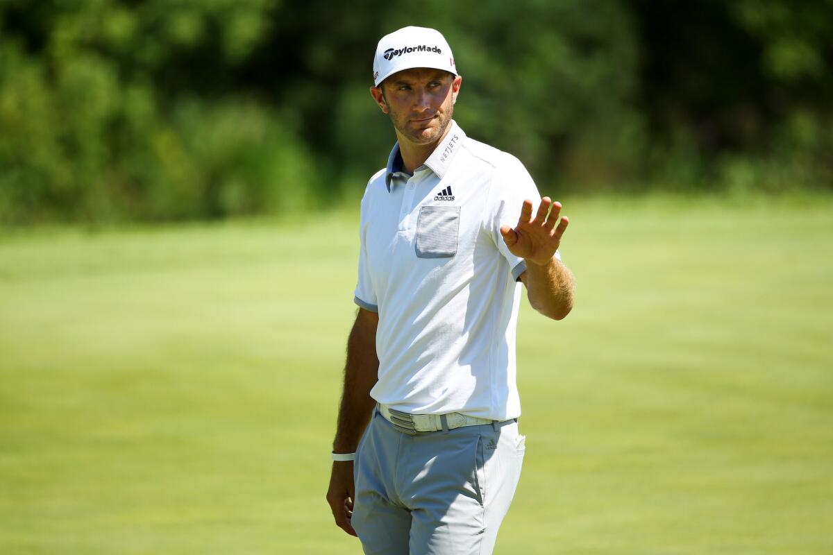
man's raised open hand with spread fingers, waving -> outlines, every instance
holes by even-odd
[[[561,203],[553,202],[549,196],[545,196],[541,199],[534,220],[532,201],[523,201],[521,217],[515,229],[503,225],[501,235],[513,255],[531,260],[537,265],[546,265],[556,254],[558,245],[561,245],[561,235],[564,235],[569,224],[566,216],[561,217]]]

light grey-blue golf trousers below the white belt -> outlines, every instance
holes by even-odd
[[[516,420],[402,434],[378,409],[353,465],[367,555],[488,555],[524,455]]]

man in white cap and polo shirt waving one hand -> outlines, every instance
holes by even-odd
[[[362,199],[327,502],[365,553],[483,555],[524,453],[517,281],[541,314],[567,315],[568,221],[520,161],[451,119],[462,77],[439,32],[383,37],[373,80],[398,141]]]

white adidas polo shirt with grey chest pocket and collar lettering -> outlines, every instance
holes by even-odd
[[[456,122],[413,176],[399,144],[362,198],[357,305],[378,312],[371,396],[411,414],[521,414],[515,336],[523,259],[501,225],[541,197],[515,156]]]

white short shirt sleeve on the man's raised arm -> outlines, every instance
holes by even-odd
[[[489,225],[489,231],[497,249],[509,263],[514,280],[526,271],[526,262],[509,252],[509,247],[506,246],[501,235],[501,226],[516,227],[518,218],[521,216],[523,201],[526,199],[532,201],[534,214],[538,205],[541,204],[541,194],[521,161],[515,156],[507,155],[503,163],[496,168],[491,181],[489,190],[491,218],[487,225]],[[556,256],[560,258],[557,252]]]

